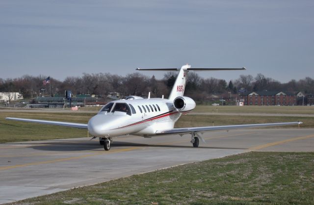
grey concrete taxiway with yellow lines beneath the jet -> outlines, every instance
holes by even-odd
[[[180,164],[249,151],[314,152],[314,129],[237,129],[208,132],[193,148],[189,135],[0,144],[0,204]]]

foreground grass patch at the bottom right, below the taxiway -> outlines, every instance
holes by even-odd
[[[251,152],[186,164],[16,204],[312,205],[314,153]]]

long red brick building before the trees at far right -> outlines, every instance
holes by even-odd
[[[295,105],[296,96],[283,91],[256,91],[243,95],[244,105]]]

